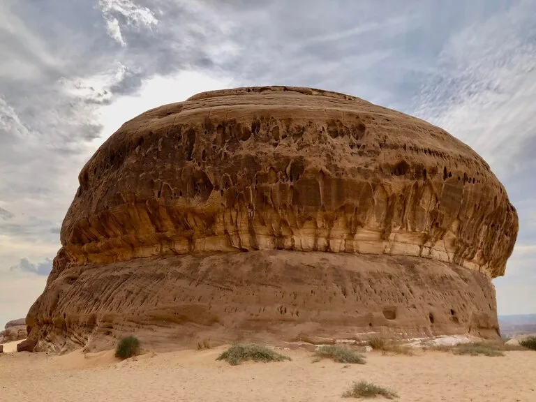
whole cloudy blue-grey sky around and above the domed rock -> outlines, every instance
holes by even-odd
[[[137,114],[201,91],[316,87],[475,149],[520,230],[499,314],[536,313],[536,0],[1,0],[0,327],[40,295],[77,175]]]

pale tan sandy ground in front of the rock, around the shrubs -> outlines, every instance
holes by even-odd
[[[391,387],[397,401],[536,401],[536,352],[505,357],[443,352],[382,356],[367,364],[313,363],[311,352],[285,350],[292,362],[216,362],[224,348],[148,352],[119,362],[114,352],[64,356],[0,355],[2,401],[348,401],[352,381]],[[375,400],[382,400],[380,398]]]

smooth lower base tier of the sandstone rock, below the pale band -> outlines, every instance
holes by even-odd
[[[475,334],[498,338],[488,276],[389,255],[253,251],[71,267],[27,317],[36,350],[156,350],[201,339],[292,341]]]

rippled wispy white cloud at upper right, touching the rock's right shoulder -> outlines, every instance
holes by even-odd
[[[512,156],[536,132],[531,9],[521,1],[454,34],[440,54],[437,75],[419,94],[416,114],[468,143],[498,175],[516,168]]]

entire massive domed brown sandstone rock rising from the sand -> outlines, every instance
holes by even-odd
[[[516,210],[425,121],[316,89],[208,92],[126,122],[79,180],[27,317],[38,349],[498,336]]]

